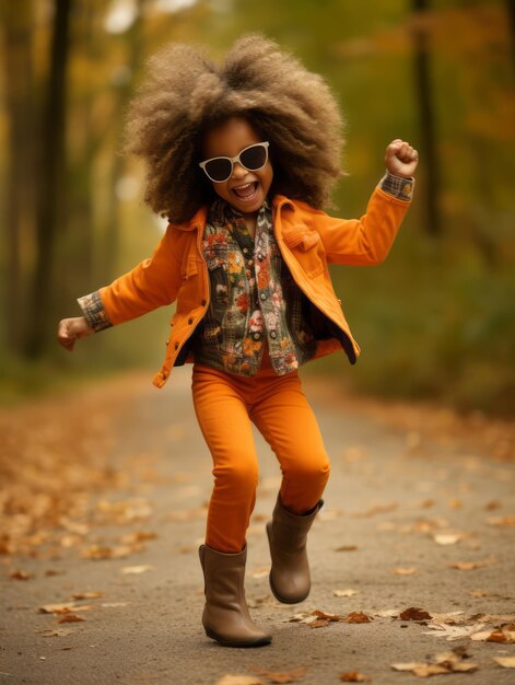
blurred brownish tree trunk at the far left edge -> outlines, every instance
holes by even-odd
[[[34,231],[32,2],[15,4],[3,0],[1,19],[9,120],[4,213],[4,341],[8,349],[16,353],[23,345],[24,281]]]

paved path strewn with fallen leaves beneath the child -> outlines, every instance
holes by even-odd
[[[473,662],[478,670],[448,674],[450,684],[515,683],[515,671],[494,661],[514,657],[513,643],[463,635],[469,626],[492,632],[515,623],[515,529],[503,525],[513,523],[515,513],[515,463],[456,440],[432,441],[409,427],[388,426],[320,381],[307,381],[306,390],[332,471],[326,507],[309,537],[312,595],[296,606],[271,599],[264,526],[279,478],[274,457],[258,437],[261,481],[248,534],[247,597],[273,642],[237,650],[207,639],[197,547],[211,476],[189,374],[189,369],[174,372],[162,392],[134,376],[106,454],[116,487],[93,495],[90,518],[66,522],[58,553],[3,559],[0,683],[214,685],[226,674],[241,674],[268,684],[288,681],[257,675],[254,667],[274,673],[303,667],[305,674],[292,682],[330,685],[341,683],[343,673],[359,672],[374,685],[412,685],[420,677],[391,664],[428,662],[453,649],[459,663]],[[449,568],[461,562],[480,568]],[[10,577],[20,568],[28,580]],[[355,593],[335,594],[347,590]],[[102,596],[71,599],[85,592]],[[38,612],[54,603],[74,603],[71,614],[84,620],[58,623],[70,614]],[[432,618],[399,618],[409,607]],[[364,613],[371,620],[318,628],[291,622],[315,609],[343,618]],[[453,612],[458,612],[454,626]],[[440,622],[437,614],[444,615]],[[437,623],[458,639],[447,641]]]

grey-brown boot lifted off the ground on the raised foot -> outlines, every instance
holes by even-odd
[[[303,602],[311,590],[309,564],[306,538],[324,500],[305,515],[296,515],[284,509],[278,496],[272,520],[267,523],[272,568],[270,589],[279,602]]]

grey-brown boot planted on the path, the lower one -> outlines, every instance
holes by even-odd
[[[204,578],[206,635],[223,647],[269,645],[272,638],[253,622],[245,601],[247,548],[238,554],[224,554],[201,545],[199,556]]]

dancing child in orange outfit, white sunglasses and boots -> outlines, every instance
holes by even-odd
[[[309,593],[306,536],[329,460],[297,369],[360,349],[331,286],[328,263],[378,264],[411,199],[415,150],[386,149],[387,172],[361,219],[321,211],[340,175],[341,119],[320,77],[260,36],[222,67],[172,45],[150,61],[132,103],[129,149],[148,163],[145,199],[169,225],[153,256],[81,298],[83,316],[59,324],[74,342],[176,302],[161,371],[194,362],[192,394],[213,458],[206,544],[206,634],[220,645],[268,645],[245,602],[245,533],[258,464],[250,423],[282,472],[272,520],[270,587],[280,602]]]

